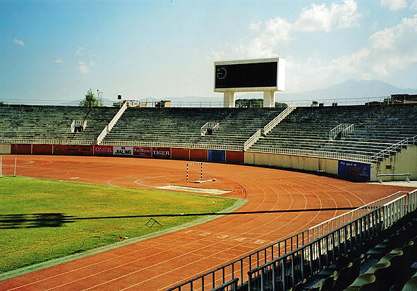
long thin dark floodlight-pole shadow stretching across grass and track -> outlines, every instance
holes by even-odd
[[[208,215],[255,215],[255,214],[265,214],[265,213],[300,213],[300,212],[316,212],[316,211],[353,210],[355,208],[356,207],[308,208],[308,209],[288,209],[288,210],[235,211],[233,213],[175,213],[175,214],[152,214],[152,215],[114,215],[114,216],[102,216],[102,217],[74,217],[71,215],[64,215],[63,213],[9,214],[9,215],[0,215],[0,229],[60,227],[60,226],[63,226],[63,224],[76,222],[77,220],[184,217],[184,216],[208,216]]]

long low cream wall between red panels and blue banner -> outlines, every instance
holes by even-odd
[[[337,175],[338,160],[246,151],[245,164],[302,169],[305,171],[325,172],[327,174]]]

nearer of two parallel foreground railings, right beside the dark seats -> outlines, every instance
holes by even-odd
[[[357,249],[366,240],[416,209],[417,190],[403,194],[316,240],[248,272],[248,290],[289,290],[318,274],[336,258]],[[378,203],[379,205],[379,203]]]

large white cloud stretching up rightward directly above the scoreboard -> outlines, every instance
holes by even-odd
[[[329,32],[333,29],[359,26],[357,3],[354,0],[344,0],[340,3],[315,4],[302,8],[295,22],[288,22],[282,17],[268,19],[265,22],[250,24],[252,31],[258,32],[256,38],[248,43],[238,44],[232,51],[249,58],[268,58],[277,56],[279,44],[293,40],[295,32]]]

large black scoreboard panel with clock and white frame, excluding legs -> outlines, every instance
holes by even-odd
[[[215,92],[279,90],[278,58],[216,62]]]

